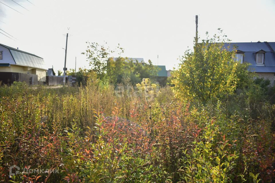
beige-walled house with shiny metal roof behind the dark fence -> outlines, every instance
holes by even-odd
[[[46,82],[47,70],[43,58],[0,44],[0,81],[3,84]]]

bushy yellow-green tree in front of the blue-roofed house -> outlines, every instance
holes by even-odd
[[[206,103],[234,93],[238,62],[235,51],[224,45],[229,41],[219,29],[218,35],[209,39],[207,33],[206,40],[194,44],[194,51],[185,52],[172,79],[176,96]]]

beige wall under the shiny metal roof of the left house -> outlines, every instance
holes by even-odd
[[[9,67],[0,67],[0,72],[17,72],[25,74],[36,74],[38,76],[38,81],[46,82],[46,70],[37,69],[33,67],[26,67],[20,65],[10,65]]]

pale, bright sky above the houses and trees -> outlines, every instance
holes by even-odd
[[[0,32],[13,36],[0,34],[0,43],[44,58],[57,73],[69,33],[68,70],[75,57],[76,68],[90,68],[81,54],[87,41],[106,41],[111,49],[119,43],[121,56],[150,59],[168,70],[193,46],[195,15],[200,39],[221,28],[232,42],[275,42],[275,0],[0,0],[0,29],[9,35]]]

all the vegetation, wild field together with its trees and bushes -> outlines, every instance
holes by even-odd
[[[195,43],[165,87],[97,43],[79,87],[1,86],[0,182],[274,182],[275,87],[224,37]]]

